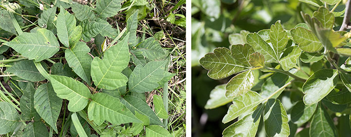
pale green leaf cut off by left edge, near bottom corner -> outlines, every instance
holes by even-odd
[[[17,110],[7,102],[0,102],[0,134],[13,131],[20,121]]]

